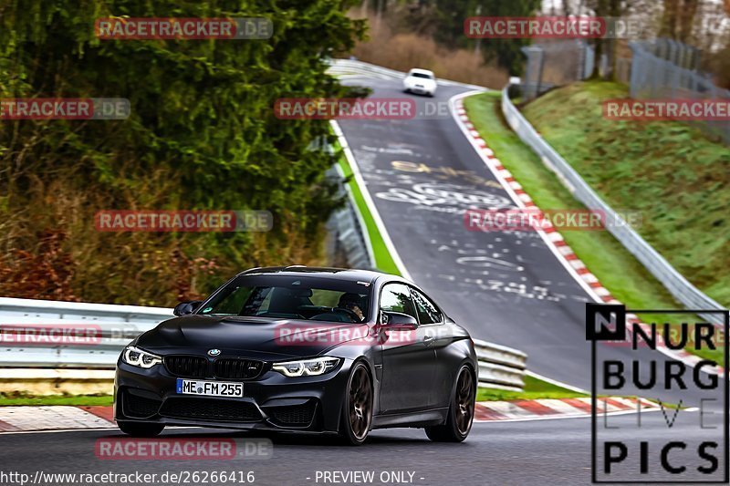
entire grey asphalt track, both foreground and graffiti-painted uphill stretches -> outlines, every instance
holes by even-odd
[[[358,84],[373,88],[374,96],[404,96],[398,81],[362,79]],[[446,102],[463,90],[442,86],[434,100]],[[454,119],[447,115],[430,120],[347,120],[340,127],[415,282],[475,337],[522,349],[529,355],[530,369],[589,388],[590,355],[583,322],[588,295],[536,234],[465,230],[458,213],[464,201],[474,202],[476,196],[490,203],[510,202]],[[403,171],[414,166],[394,166],[393,161],[422,163],[422,171]],[[618,347],[601,352],[625,357],[625,350]],[[662,359],[645,353],[644,358]],[[676,402],[672,393],[660,395]],[[645,413],[641,428],[635,415],[610,417],[609,425],[620,429],[606,433],[619,434],[632,444],[639,439],[682,438],[692,443],[704,438],[699,413],[683,410],[672,428],[665,427],[672,413],[668,418],[661,412]],[[308,485],[324,484],[315,481],[318,470],[373,470],[376,478],[381,471],[408,470],[414,472],[413,484],[424,485],[586,484],[590,423],[590,419],[478,423],[462,444],[433,443],[415,429],[376,430],[360,448],[342,447],[318,436],[277,436],[272,438],[272,459],[250,461],[99,460],[94,454],[96,440],[122,438],[118,430],[5,433],[0,434],[0,457],[4,472],[31,476],[36,470],[254,470],[255,484]],[[171,429],[162,437],[178,436],[249,437],[203,429]],[[657,470],[656,450],[651,452],[650,472],[631,479],[666,479]],[[694,451],[677,454],[674,460],[699,463]],[[637,469],[638,458],[631,450],[627,464],[632,470]]]

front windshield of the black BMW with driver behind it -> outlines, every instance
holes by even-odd
[[[330,322],[368,320],[370,284],[306,275],[245,275],[198,314],[252,315]]]

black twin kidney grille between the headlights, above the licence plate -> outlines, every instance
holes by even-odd
[[[211,362],[205,357],[172,355],[164,357],[164,365],[176,377],[254,379],[264,370],[264,362],[238,357],[219,357]]]

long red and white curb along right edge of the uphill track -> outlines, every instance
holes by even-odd
[[[456,95],[451,98],[450,104],[452,107],[452,113],[457,124],[464,132],[464,135],[468,140],[471,141],[474,150],[479,154],[482,160],[485,162],[487,168],[492,171],[495,175],[496,180],[502,185],[508,194],[512,196],[512,200],[516,202],[517,206],[521,208],[537,208],[535,202],[522,189],[522,186],[515,180],[512,173],[507,171],[502,165],[502,162],[495,156],[494,150],[489,148],[486,140],[482,139],[479,132],[474,129],[474,124],[469,121],[469,117],[464,109],[464,98],[467,96],[474,95],[474,92],[467,92],[461,95]],[[539,208],[537,208],[539,209]],[[537,233],[545,240],[548,248],[555,253],[563,266],[568,269],[568,273],[571,274],[578,283],[586,290],[588,295],[593,297],[596,302],[602,302],[605,304],[621,304],[618,299],[610,294],[610,291],[604,287],[596,275],[591,274],[586,264],[584,264],[573,252],[568,243],[565,242],[563,236],[555,229],[549,221],[543,224],[542,230],[537,230]],[[647,336],[651,336],[651,326],[645,323],[641,323],[639,317],[635,314],[627,314],[626,321],[629,324],[638,324],[641,326]],[[628,341],[613,343],[614,346],[630,346]],[[693,355],[684,349],[670,349],[664,344],[661,336],[657,335],[657,349],[668,357],[672,357],[678,361],[683,361],[685,364],[694,367],[698,362],[702,360],[701,357]],[[704,370],[708,372],[721,374],[723,373],[722,367],[716,367],[714,369],[704,367]]]

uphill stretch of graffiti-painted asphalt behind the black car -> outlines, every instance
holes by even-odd
[[[464,225],[469,207],[516,207],[444,108],[469,89],[440,86],[435,98],[423,98],[402,93],[400,80],[354,78],[348,83],[371,88],[370,98],[411,98],[417,113],[440,114],[339,121],[412,280],[475,338],[521,349],[530,370],[589,390],[585,304],[593,300],[587,291],[537,233],[473,232]],[[434,103],[442,109],[434,109]],[[666,358],[661,353],[603,344],[597,349],[600,359],[625,364],[637,356],[644,364],[655,360],[662,376]],[[642,366],[640,376],[645,379],[648,372]],[[721,398],[688,386],[683,391],[626,390],[694,406],[701,398]]]

